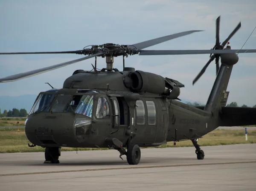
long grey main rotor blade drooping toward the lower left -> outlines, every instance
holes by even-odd
[[[48,66],[48,67],[45,67],[45,68],[40,68],[40,69],[36,69],[36,70],[27,71],[27,72],[23,72],[23,73],[20,73],[20,74],[15,74],[15,75],[12,75],[12,76],[4,77],[4,78],[0,79],[0,82],[1,83],[2,82],[12,82],[12,81],[20,80],[20,79],[23,79],[23,78],[26,78],[26,77],[31,77],[31,76],[34,76],[36,74],[42,74],[44,72],[51,71],[51,70],[54,70],[54,69],[57,69],[57,68],[61,68],[61,67],[73,64],[73,63],[77,63],[77,62],[80,62],[82,60],[87,60],[89,58],[96,57],[96,56],[99,56],[101,54],[103,54],[103,53],[97,53],[97,54],[93,54],[93,55],[83,57],[83,58],[79,58],[79,59],[76,59],[76,60],[71,60],[71,61],[68,61],[68,62],[65,62],[65,63],[60,63],[60,64],[56,64],[56,65],[53,65],[53,66]]]

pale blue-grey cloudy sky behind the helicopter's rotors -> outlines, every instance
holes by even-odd
[[[215,20],[221,15],[220,41],[223,42],[241,21],[230,40],[240,49],[256,26],[254,0],[1,0],[0,52],[69,51],[91,44],[134,44],[188,30],[204,30],[146,49],[210,49],[215,44]],[[256,31],[245,48],[256,48]],[[30,71],[80,58],[81,55],[0,55],[0,77]],[[192,80],[209,60],[208,54],[131,56],[126,66],[154,72],[185,84],[180,98],[207,101],[215,79],[212,62],[201,79]],[[61,88],[76,69],[91,70],[85,60],[64,68],[10,83],[0,83],[0,96],[38,94],[50,87]],[[122,70],[122,58],[114,66]],[[98,68],[105,60],[98,59]],[[230,78],[228,103],[256,104],[256,54],[239,54]]]

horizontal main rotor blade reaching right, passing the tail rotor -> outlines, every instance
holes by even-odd
[[[256,53],[256,49],[242,50],[141,50],[140,55],[178,55],[178,54],[229,54],[229,53]]]

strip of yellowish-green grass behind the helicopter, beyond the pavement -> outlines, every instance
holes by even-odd
[[[210,146],[256,143],[256,130],[248,130],[247,134],[248,140],[245,141],[244,130],[216,129],[199,139],[198,144],[200,146]],[[17,131],[17,128],[0,128],[0,153],[44,151],[44,148],[38,146],[30,148],[28,147],[28,143],[29,141],[26,139],[24,128],[20,128],[20,131]],[[159,148],[188,146],[193,146],[190,140],[177,142],[176,145],[170,142],[167,145],[159,146]],[[108,148],[78,148],[78,151],[84,150],[108,150]],[[76,151],[76,148],[61,148],[61,151]]]

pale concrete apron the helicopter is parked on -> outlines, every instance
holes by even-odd
[[[44,153],[0,154],[1,191],[255,191],[256,144],[141,149],[138,165],[119,152],[62,152],[59,164]]]

